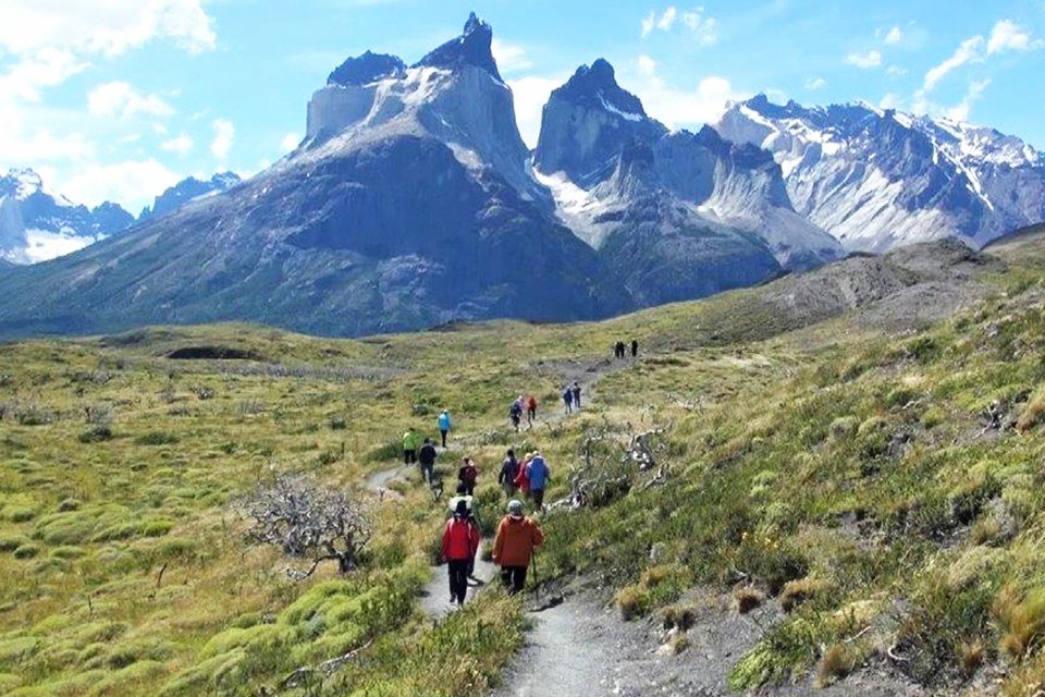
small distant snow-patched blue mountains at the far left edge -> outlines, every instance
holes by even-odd
[[[94,209],[49,192],[29,169],[0,176],[0,258],[36,264],[125,230],[134,218],[115,204]]]

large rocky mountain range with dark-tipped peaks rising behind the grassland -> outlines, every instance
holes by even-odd
[[[0,334],[598,318],[1045,219],[1045,163],[1016,138],[764,97],[673,131],[602,59],[552,93],[530,151],[492,36],[472,14],[411,65],[347,59],[268,170],[183,182],[123,234],[5,270],[0,293],[22,299]]]

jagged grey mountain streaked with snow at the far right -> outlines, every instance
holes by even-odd
[[[795,209],[850,250],[946,236],[982,246],[1045,219],[1045,158],[993,129],[761,95],[714,127],[773,152]]]

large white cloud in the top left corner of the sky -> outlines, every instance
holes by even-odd
[[[0,2],[0,49],[8,53],[63,47],[119,56],[153,39],[170,39],[189,52],[217,44],[202,0]]]

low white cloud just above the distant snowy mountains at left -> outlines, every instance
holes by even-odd
[[[169,186],[179,182],[177,174],[157,160],[126,160],[112,164],[89,163],[77,167],[67,179],[54,183],[56,191],[71,200],[97,206],[114,200],[128,210],[139,210]]]

